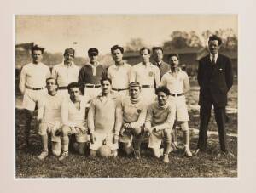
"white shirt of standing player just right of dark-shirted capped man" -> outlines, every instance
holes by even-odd
[[[108,77],[112,80],[113,88],[129,88],[131,76],[131,65],[110,65]]]

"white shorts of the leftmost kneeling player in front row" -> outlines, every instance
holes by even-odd
[[[51,141],[53,142],[61,142],[60,136],[55,136],[55,132],[57,129],[61,128],[62,123],[55,122],[41,122],[38,129],[39,135],[46,135],[47,133],[51,134]]]

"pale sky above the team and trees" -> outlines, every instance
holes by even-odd
[[[172,31],[233,29],[237,35],[236,15],[16,15],[15,43],[34,42],[51,53],[75,48],[77,56],[89,48],[100,54],[126,45],[131,38],[142,38],[148,46],[161,46],[170,40]],[[76,42],[76,43],[74,43]]]

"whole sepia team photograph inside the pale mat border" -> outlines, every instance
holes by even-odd
[[[14,27],[15,179],[237,179],[237,14]]]

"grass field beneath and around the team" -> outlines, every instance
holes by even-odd
[[[17,97],[20,100],[20,97]],[[198,139],[199,111],[198,87],[192,84],[187,96],[189,104],[189,128],[191,128],[190,148],[195,153]],[[17,103],[19,101],[16,100]],[[165,164],[153,158],[144,143],[142,159],[135,160],[119,152],[119,157],[90,158],[79,156],[71,151],[66,160],[60,162],[55,156],[48,156],[39,161],[37,156],[41,151],[36,122],[33,120],[30,148],[22,147],[24,143],[24,116],[22,111],[16,109],[16,156],[15,168],[17,178],[123,178],[123,177],[237,177],[237,86],[230,90],[227,107],[229,122],[227,123],[228,145],[235,157],[217,157],[219,152],[217,126],[214,116],[209,123],[212,133],[208,136],[208,149],[206,154],[200,156],[184,157],[182,150],[170,156],[170,163]],[[181,132],[178,130],[178,141],[181,141]]]

